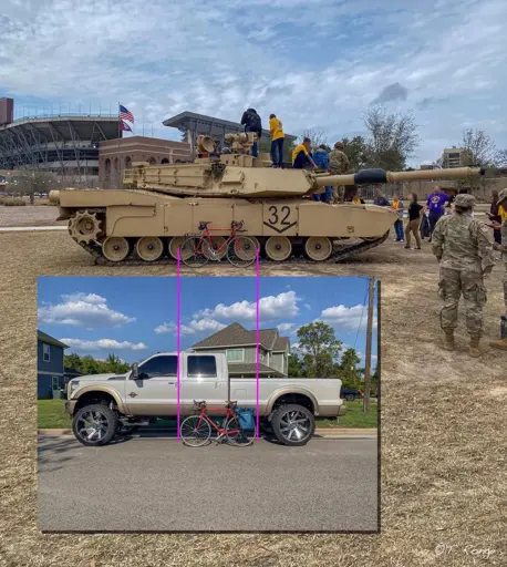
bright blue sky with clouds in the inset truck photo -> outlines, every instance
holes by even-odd
[[[173,277],[43,277],[38,326],[76,352],[138,362],[177,349],[177,280]],[[260,278],[260,328],[277,327],[298,348],[302,324],[330,324],[344,348],[364,357],[366,278]],[[256,329],[256,278],[182,278],[180,349],[231,322]],[[373,329],[376,360],[376,303]],[[374,362],[374,361],[373,361]]]

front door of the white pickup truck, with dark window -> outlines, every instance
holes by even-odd
[[[138,367],[138,379],[125,383],[134,415],[176,415],[176,354],[156,354]]]

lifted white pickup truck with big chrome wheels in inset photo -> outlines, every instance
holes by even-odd
[[[72,416],[74,435],[83,445],[107,444],[115,434],[139,423],[177,415],[177,354],[157,353],[126,374],[92,374],[68,384],[65,411]],[[256,379],[229,379],[225,354],[179,355],[180,415],[195,412],[194,400],[205,400],[226,413],[227,400],[240,408],[257,408]],[[259,417],[262,429],[286,445],[304,445],[313,435],[314,416],[345,413],[340,398],[341,380],[261,378]],[[213,414],[211,411],[209,412]]]

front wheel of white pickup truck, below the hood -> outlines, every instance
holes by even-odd
[[[100,403],[81,408],[72,420],[75,439],[87,447],[106,445],[117,426],[117,413]]]

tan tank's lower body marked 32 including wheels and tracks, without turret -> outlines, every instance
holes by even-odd
[[[381,244],[397,218],[374,205],[178,198],[139,189],[63,189],[58,200],[73,239],[108,265],[174,261],[201,221],[220,239],[230,234],[232,220],[244,223],[242,234],[257,241],[267,260],[338,261]]]

